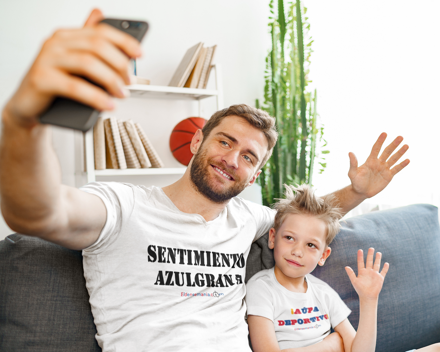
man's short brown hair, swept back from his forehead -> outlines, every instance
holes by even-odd
[[[211,118],[208,120],[208,122],[206,122],[206,125],[202,129],[203,138],[205,139],[206,137],[208,137],[211,131],[216,126],[220,125],[220,122],[228,116],[241,117],[242,119],[246,120],[249,125],[259,129],[261,132],[264,133],[264,136],[268,141],[268,152],[260,163],[259,168],[261,168],[270,158],[272,154],[272,149],[278,139],[278,132],[275,126],[275,118],[271,117],[271,115],[269,115],[264,110],[257,109],[246,104],[231,105],[225,109],[217,111],[211,116]]]

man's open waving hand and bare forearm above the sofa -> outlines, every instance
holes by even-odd
[[[396,137],[378,157],[386,136],[385,132],[381,133],[376,143],[374,143],[367,161],[359,167],[356,155],[351,152],[348,153],[350,158],[348,177],[350,177],[352,184],[333,193],[339,199],[341,208],[344,209],[345,213],[348,213],[365,199],[371,198],[382,191],[390,183],[393,176],[410,163],[409,159],[406,159],[392,167],[408,150],[408,145],[405,144],[396,153],[392,154],[403,141],[402,136]]]

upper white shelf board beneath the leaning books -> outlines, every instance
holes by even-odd
[[[169,87],[165,85],[132,84],[127,86],[133,97],[199,100],[218,95],[213,89]]]

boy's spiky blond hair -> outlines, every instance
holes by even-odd
[[[323,220],[327,226],[326,246],[328,246],[339,232],[341,224],[339,220],[343,216],[342,209],[337,205],[337,198],[328,194],[323,197],[315,197],[314,192],[307,184],[297,187],[284,185],[286,192],[284,199],[278,199],[274,208],[275,231],[278,231],[282,222],[289,214],[306,214]]]

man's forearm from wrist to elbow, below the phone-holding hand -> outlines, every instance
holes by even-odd
[[[1,209],[15,231],[38,235],[53,226],[61,170],[47,125],[22,126],[8,106],[0,139]]]

